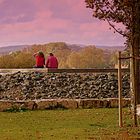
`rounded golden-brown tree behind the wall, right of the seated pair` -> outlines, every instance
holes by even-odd
[[[95,46],[86,46],[85,48],[72,52],[67,64],[70,68],[104,68],[106,60],[104,51]]]

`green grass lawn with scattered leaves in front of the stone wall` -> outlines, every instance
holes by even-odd
[[[139,137],[128,109],[124,127],[118,109],[44,110],[0,112],[0,140],[127,140]]]

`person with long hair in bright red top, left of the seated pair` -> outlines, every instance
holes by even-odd
[[[34,54],[34,57],[36,59],[36,64],[35,64],[35,68],[44,68],[45,65],[45,57],[43,52],[39,51],[38,53]]]

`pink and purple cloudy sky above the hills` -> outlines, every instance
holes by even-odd
[[[116,46],[125,39],[93,18],[84,0],[0,0],[0,47],[57,41]]]

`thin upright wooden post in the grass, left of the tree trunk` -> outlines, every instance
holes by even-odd
[[[119,126],[123,126],[122,121],[122,74],[121,74],[121,52],[118,52],[118,97],[119,97]]]

